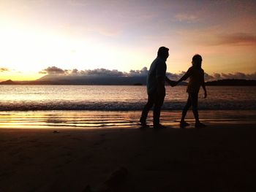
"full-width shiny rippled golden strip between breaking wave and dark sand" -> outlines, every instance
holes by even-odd
[[[151,122],[151,113],[148,123]],[[170,128],[179,128],[180,111],[162,112],[162,124]],[[256,111],[201,111],[200,118],[210,126],[216,123],[255,123]],[[0,112],[0,128],[138,128],[139,111],[34,111]],[[188,113],[187,122],[194,119]]]

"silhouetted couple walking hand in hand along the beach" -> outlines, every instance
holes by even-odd
[[[146,123],[146,118],[148,116],[149,110],[154,106],[153,112],[153,127],[154,128],[165,128],[162,124],[159,123],[160,113],[162,104],[165,100],[165,81],[169,83],[172,87],[178,85],[179,82],[187,80],[189,78],[189,83],[187,85],[188,99],[187,104],[185,105],[182,116],[180,127],[184,128],[189,126],[189,123],[185,121],[187,111],[192,106],[192,111],[195,117],[195,127],[201,128],[205,127],[203,123],[200,123],[197,104],[198,104],[198,93],[200,87],[203,87],[204,97],[207,97],[206,85],[204,81],[204,71],[201,68],[202,57],[200,55],[194,55],[192,58],[192,66],[189,67],[186,74],[181,77],[178,81],[172,81],[166,77],[166,63],[169,56],[169,49],[167,47],[159,47],[157,52],[157,58],[152,62],[150,69],[148,71],[147,77],[147,93],[148,101],[143,107],[143,111],[140,117],[140,124],[142,128],[149,127]]]

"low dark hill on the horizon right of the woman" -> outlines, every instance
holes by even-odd
[[[218,86],[256,86],[256,80],[216,80],[206,82],[206,85],[218,85]]]

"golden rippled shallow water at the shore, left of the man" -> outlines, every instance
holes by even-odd
[[[134,115],[134,112],[0,112],[1,128],[127,128],[132,126],[138,126],[138,114]]]

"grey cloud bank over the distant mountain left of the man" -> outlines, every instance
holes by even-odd
[[[40,81],[64,82],[75,85],[134,85],[135,83],[146,84],[148,69],[119,72],[118,70],[94,69],[60,69],[56,66],[48,67],[40,72],[46,74]]]

